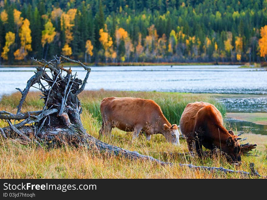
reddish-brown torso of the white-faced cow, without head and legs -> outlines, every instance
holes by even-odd
[[[160,107],[153,101],[133,97],[107,97],[100,104],[102,118],[112,121],[116,127],[134,127],[136,124],[153,123],[155,115],[161,114]]]

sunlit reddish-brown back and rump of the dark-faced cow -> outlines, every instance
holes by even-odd
[[[194,134],[194,126],[198,115],[201,115],[202,120],[205,121],[209,121],[210,116],[212,116],[212,118],[218,120],[220,124],[223,123],[221,113],[214,105],[202,101],[188,103],[181,115],[179,124],[182,134],[186,136]]]

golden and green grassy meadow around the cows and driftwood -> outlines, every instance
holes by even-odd
[[[22,112],[42,109],[42,100],[39,100],[38,92],[30,92],[25,100]],[[266,176],[267,171],[267,136],[259,134],[243,134],[248,137],[241,143],[249,142],[257,144],[253,150],[255,156],[242,156],[242,164],[233,166],[225,157],[214,155],[200,159],[198,157],[166,156],[164,152],[188,152],[186,141],[180,139],[180,146],[168,143],[164,136],[156,134],[146,141],[145,135],[140,134],[137,140],[132,142],[132,133],[126,133],[113,129],[112,137],[99,137],[98,131],[102,119],[100,115],[100,102],[104,97],[140,97],[152,99],[158,103],[171,124],[179,124],[180,116],[187,103],[205,101],[213,103],[225,116],[225,108],[211,96],[211,94],[193,93],[161,93],[161,92],[130,92],[130,91],[83,91],[79,98],[82,103],[83,113],[81,120],[87,133],[106,143],[137,151],[140,154],[150,155],[162,161],[173,162],[173,166],[160,166],[149,161],[128,160],[126,158],[111,156],[108,154],[93,154],[83,148],[63,146],[58,149],[39,149],[32,146],[23,146],[12,140],[0,138],[0,178],[257,178],[244,177],[237,173],[223,173],[219,171],[196,170],[181,167],[179,163],[223,167],[232,170],[249,172],[249,163],[255,164],[260,175]],[[0,110],[16,113],[16,106],[21,98],[20,93],[2,97]],[[4,120],[0,120],[0,127],[7,126]],[[225,124],[229,129],[229,124]],[[231,127],[235,131],[234,127]]]

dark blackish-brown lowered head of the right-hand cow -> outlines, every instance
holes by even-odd
[[[240,154],[240,144],[238,140],[241,139],[237,137],[237,135],[230,135],[226,142],[226,145],[223,147],[223,151],[227,153],[227,160],[230,162],[234,162],[235,165],[239,165],[241,162],[241,154]]]

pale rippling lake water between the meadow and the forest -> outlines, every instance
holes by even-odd
[[[66,67],[67,68],[67,67]],[[92,66],[85,90],[267,94],[267,70],[238,65]],[[0,98],[23,90],[35,67],[0,67]],[[73,74],[84,79],[82,67]],[[36,84],[37,86],[37,84]],[[31,90],[37,90],[31,88]],[[228,112],[267,112],[267,97],[219,98]],[[238,123],[238,122],[237,122]]]

